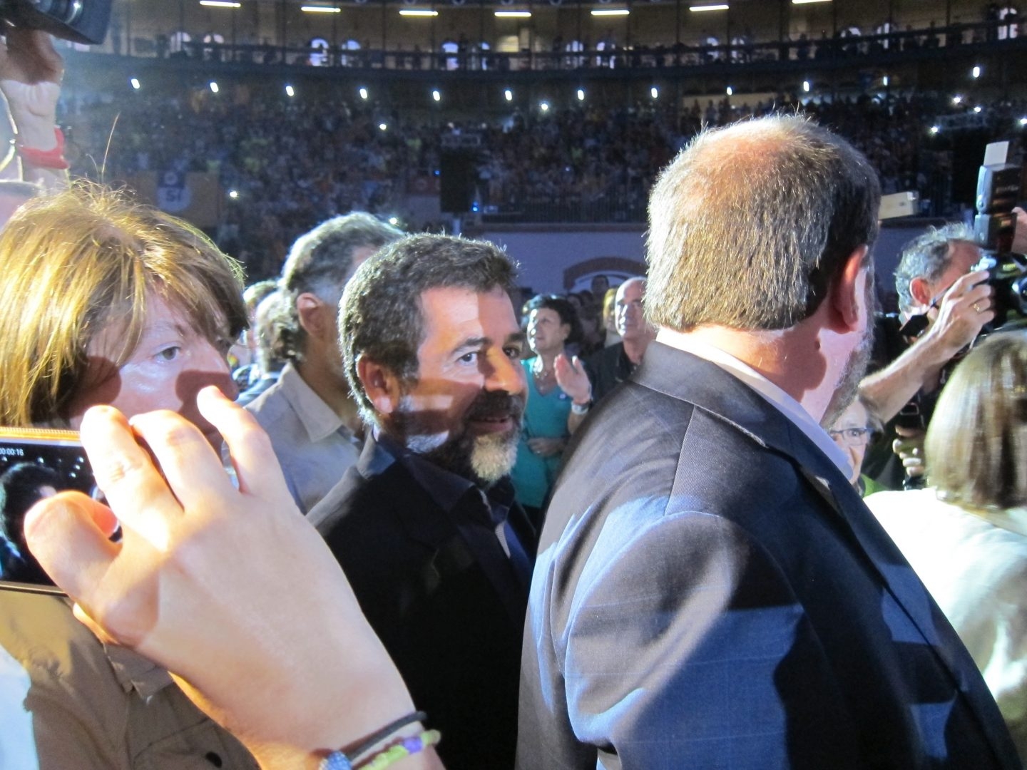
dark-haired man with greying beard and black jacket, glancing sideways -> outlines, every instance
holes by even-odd
[[[450,770],[511,768],[535,533],[507,474],[527,383],[491,243],[415,235],[342,298],[343,364],[369,436],[310,512]]]

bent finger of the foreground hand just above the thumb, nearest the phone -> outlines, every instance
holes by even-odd
[[[113,407],[93,407],[83,416],[80,433],[93,476],[111,509],[125,527],[163,544],[164,516],[181,515],[182,506],[124,416]],[[156,435],[150,437],[159,442]]]

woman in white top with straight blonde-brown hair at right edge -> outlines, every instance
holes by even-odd
[[[1027,336],[966,356],[927,428],[930,487],[867,505],[984,675],[1027,759]]]

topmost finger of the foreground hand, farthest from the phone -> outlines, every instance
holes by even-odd
[[[203,388],[197,394],[196,406],[225,439],[240,492],[260,495],[274,502],[282,501],[282,495],[289,496],[271,439],[253,415],[214,386]],[[223,470],[221,476],[225,477]]]

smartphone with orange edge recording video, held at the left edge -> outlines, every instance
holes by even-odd
[[[22,526],[39,500],[65,490],[99,497],[92,470],[72,430],[0,427],[0,588],[62,593],[27,553]]]

